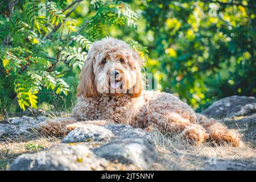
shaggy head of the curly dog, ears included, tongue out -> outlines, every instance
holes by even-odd
[[[143,87],[142,65],[139,54],[121,40],[105,38],[94,42],[81,71],[77,96],[139,97]]]

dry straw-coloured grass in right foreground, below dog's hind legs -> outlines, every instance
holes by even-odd
[[[245,165],[256,165],[256,149],[245,143],[243,147],[230,144],[203,143],[192,146],[178,135],[164,136],[153,133],[153,138],[160,156],[159,163],[169,170],[205,169],[214,161],[240,162]],[[213,161],[214,160],[214,161]]]

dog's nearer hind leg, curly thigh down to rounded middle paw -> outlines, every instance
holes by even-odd
[[[181,138],[185,138],[191,144],[200,144],[208,139],[209,134],[205,132],[203,127],[194,124],[187,118],[181,117],[176,113],[154,113],[151,121],[162,133],[179,134]]]

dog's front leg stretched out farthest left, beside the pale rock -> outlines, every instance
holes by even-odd
[[[55,118],[47,119],[44,122],[38,124],[38,131],[43,134],[49,134],[53,136],[64,136],[67,134],[66,125],[79,122],[76,118]]]

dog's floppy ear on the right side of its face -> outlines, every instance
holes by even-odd
[[[141,68],[143,66],[143,60],[138,52],[133,51],[133,59],[137,63],[137,72],[136,72],[136,84],[133,86],[131,90],[131,97],[139,97],[141,96],[141,92],[143,89],[143,81],[141,75]],[[129,92],[130,93],[130,92]]]

